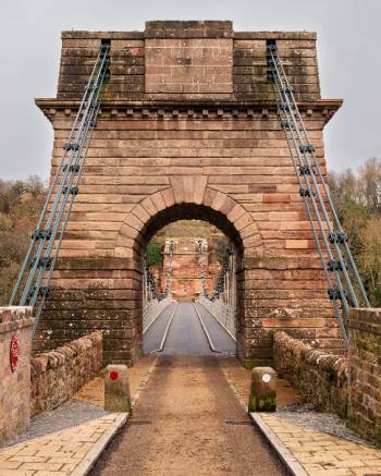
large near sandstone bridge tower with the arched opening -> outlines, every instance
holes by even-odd
[[[266,41],[275,39],[325,173],[322,131],[341,101],[320,99],[316,35],[239,33],[231,22],[64,32],[58,96],[37,100],[54,130],[52,174],[102,38],[111,40],[111,78],[36,350],[101,329],[106,362],[133,363],[142,352],[144,247],[184,218],[222,229],[243,258],[237,349],[246,365],[271,364],[279,329],[341,347],[266,75]],[[206,87],[213,74],[218,90]]]

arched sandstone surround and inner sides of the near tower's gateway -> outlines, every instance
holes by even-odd
[[[244,289],[243,259],[262,254],[258,227],[244,207],[219,191],[207,186],[207,178],[198,175],[174,176],[171,186],[157,192],[126,213],[115,240],[115,257],[130,259],[134,269],[142,268],[142,258],[151,236],[165,224],[180,219],[199,219],[218,227],[234,243],[239,265],[237,267],[237,352],[245,358],[245,318],[241,297]],[[136,283],[142,288],[142,283]],[[142,352],[142,297],[136,295],[130,309],[137,318],[131,320],[131,354],[136,358]]]

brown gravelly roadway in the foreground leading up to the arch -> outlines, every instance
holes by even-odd
[[[126,429],[91,476],[288,474],[214,356],[161,355]]]

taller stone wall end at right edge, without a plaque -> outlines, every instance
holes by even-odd
[[[381,448],[381,309],[352,309],[348,426]]]

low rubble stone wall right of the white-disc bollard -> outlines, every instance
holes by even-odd
[[[348,359],[327,354],[287,335],[274,334],[274,366],[321,412],[347,415]]]

